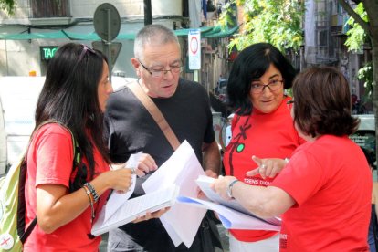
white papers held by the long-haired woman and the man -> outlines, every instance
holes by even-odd
[[[128,167],[137,167],[138,164],[132,164],[131,160],[138,160],[138,157],[135,156],[128,161]],[[129,199],[134,189],[135,178],[130,192],[127,194],[114,192],[110,195],[108,203],[101,210],[99,219],[92,228],[92,235],[100,236],[110,229],[131,222],[147,211],[154,212],[172,206],[160,217],[160,220],[176,247],[182,243],[186,247],[191,247],[207,210],[177,203],[176,198],[178,195],[196,197],[198,187],[195,180],[199,175],[204,174],[204,169],[196,158],[192,146],[184,141],[142,184],[145,195]]]

